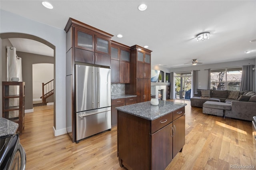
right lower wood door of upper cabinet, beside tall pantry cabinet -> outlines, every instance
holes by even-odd
[[[130,63],[120,61],[119,75],[120,75],[120,83],[130,83]]]

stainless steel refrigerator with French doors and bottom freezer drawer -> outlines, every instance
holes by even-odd
[[[110,69],[76,65],[76,142],[111,129]]]

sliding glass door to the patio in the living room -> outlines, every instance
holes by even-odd
[[[175,73],[175,98],[190,99],[191,72]]]

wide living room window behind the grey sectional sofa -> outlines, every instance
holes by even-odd
[[[211,89],[240,90],[242,67],[211,69]]]

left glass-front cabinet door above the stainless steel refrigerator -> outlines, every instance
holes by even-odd
[[[94,51],[94,34],[75,28],[75,47]]]

